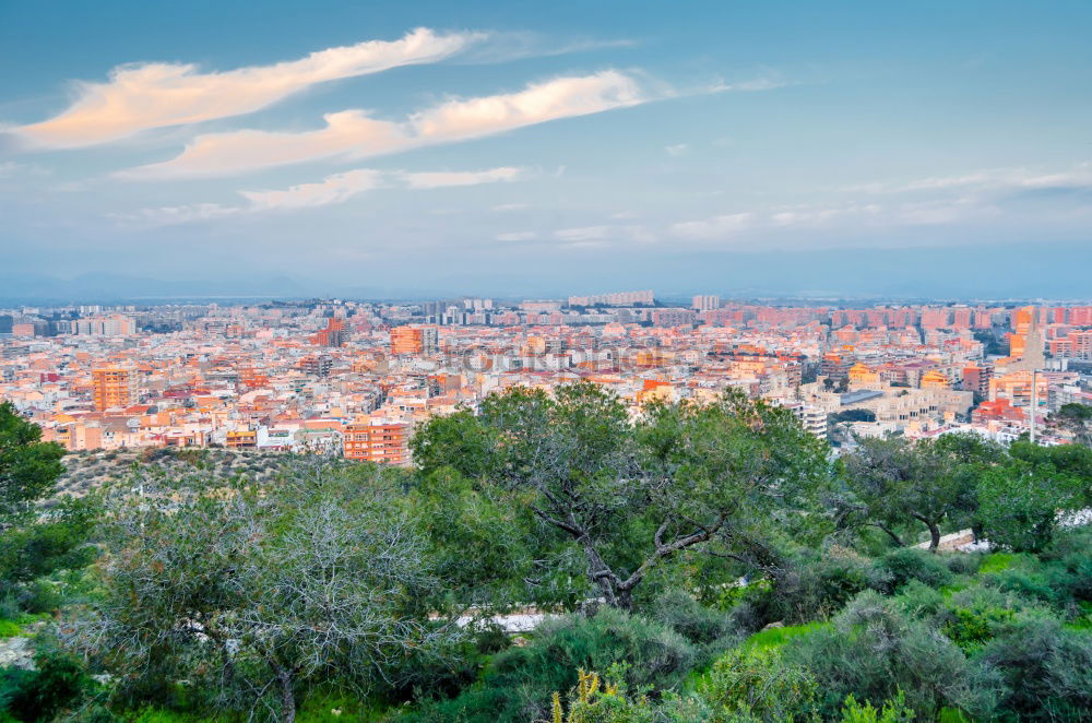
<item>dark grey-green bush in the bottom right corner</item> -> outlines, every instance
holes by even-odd
[[[1092,636],[1029,616],[992,640],[982,663],[1004,676],[1001,709],[1022,721],[1083,721],[1092,711]]]

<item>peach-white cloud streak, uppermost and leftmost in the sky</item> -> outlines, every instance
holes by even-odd
[[[106,143],[152,128],[253,112],[316,83],[436,62],[482,37],[417,28],[399,40],[328,48],[223,73],[201,73],[191,63],[120,66],[108,83],[81,83],[75,102],[60,115],[14,130],[47,147]]]

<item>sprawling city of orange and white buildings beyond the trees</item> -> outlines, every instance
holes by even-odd
[[[432,415],[574,381],[613,390],[634,416],[736,389],[835,446],[951,430],[1007,441],[1032,415],[1092,404],[1089,306],[672,304],[632,292],[0,317],[11,322],[0,398],[70,450],[219,446],[406,464]]]

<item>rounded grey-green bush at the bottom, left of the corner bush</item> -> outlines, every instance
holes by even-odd
[[[929,719],[945,707],[988,716],[998,687],[951,641],[874,591],[857,595],[832,628],[791,641],[785,656],[815,676],[826,719],[838,715],[850,694],[882,707],[900,690]]]

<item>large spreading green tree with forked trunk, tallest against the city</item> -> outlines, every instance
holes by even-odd
[[[655,404],[631,422],[594,384],[514,389],[418,432],[423,472],[444,461],[529,508],[586,565],[608,605],[681,550],[753,562],[770,526],[828,479],[826,450],[787,411],[741,394]],[[551,548],[555,540],[545,538]]]

